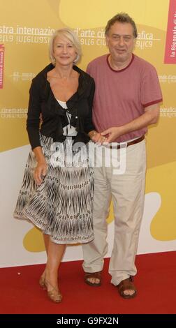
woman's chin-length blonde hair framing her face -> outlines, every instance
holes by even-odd
[[[78,39],[78,36],[72,29],[68,29],[68,27],[65,27],[64,29],[57,29],[54,31],[54,34],[52,34],[50,38],[50,44],[49,44],[49,56],[52,64],[55,66],[55,58],[53,56],[53,45],[54,40],[57,38],[57,36],[64,36],[64,38],[68,38],[69,41],[73,44],[73,47],[75,48],[75,52],[77,53],[77,57],[73,61],[74,64],[78,63],[80,61],[82,56],[82,50],[80,46],[80,40]]]

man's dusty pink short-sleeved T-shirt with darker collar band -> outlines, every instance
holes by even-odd
[[[96,84],[93,121],[98,132],[127,124],[144,114],[145,107],[162,101],[156,69],[134,54],[122,70],[112,70],[105,54],[89,63],[87,73]],[[142,128],[115,141],[131,140],[146,131],[147,128]]]

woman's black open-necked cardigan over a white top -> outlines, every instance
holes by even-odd
[[[47,72],[52,68],[54,66],[50,64],[38,73],[32,80],[29,90],[27,132],[32,149],[41,146],[40,132],[46,137],[52,137],[53,142],[63,142],[66,139],[63,135],[63,127],[68,125],[66,111],[71,114],[70,124],[75,126],[78,132],[74,143],[87,143],[89,141],[87,133],[94,130],[91,120],[95,91],[93,78],[77,66],[73,66],[73,69],[80,73],[79,84],[78,90],[67,100],[68,110],[66,110],[54,98],[50,83],[47,81]],[[41,114],[43,123],[40,128]]]

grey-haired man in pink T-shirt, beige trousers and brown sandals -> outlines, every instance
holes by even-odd
[[[95,239],[83,246],[85,282],[101,285],[103,257],[108,248],[106,218],[112,197],[115,239],[109,272],[111,283],[125,299],[137,293],[133,276],[137,272],[135,255],[145,197],[145,133],[147,126],[158,120],[162,101],[155,68],[133,54],[137,36],[129,15],[115,15],[105,27],[110,54],[94,59],[87,67],[96,82],[94,142],[104,146],[118,142],[119,147],[125,142],[126,170],[114,174],[112,163],[110,167],[94,168]]]

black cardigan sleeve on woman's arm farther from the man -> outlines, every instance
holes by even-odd
[[[41,146],[39,137],[40,113],[41,96],[38,89],[38,81],[34,78],[31,83],[31,88],[29,89],[29,106],[27,113],[27,132],[32,149]]]

